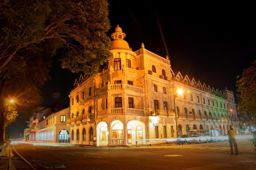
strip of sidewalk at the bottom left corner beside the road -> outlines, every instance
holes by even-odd
[[[10,148],[11,141],[0,143],[0,169],[1,170],[15,170],[15,166],[12,163],[12,150]]]

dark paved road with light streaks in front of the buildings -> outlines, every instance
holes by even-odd
[[[193,145],[93,148],[17,143],[14,149],[39,169],[255,169],[256,151],[248,139],[238,139],[239,155],[228,142]],[[15,156],[18,157],[18,156]],[[21,159],[15,167],[28,169]],[[30,169],[32,169],[30,167]]]

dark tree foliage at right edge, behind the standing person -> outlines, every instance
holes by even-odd
[[[236,82],[239,111],[249,112],[256,117],[256,61],[243,70]]]

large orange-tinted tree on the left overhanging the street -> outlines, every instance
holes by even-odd
[[[4,99],[15,108],[39,105],[52,57],[61,52],[63,69],[94,74],[110,56],[106,0],[5,0],[0,2],[0,141]]]

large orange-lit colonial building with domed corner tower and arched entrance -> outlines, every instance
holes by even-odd
[[[125,36],[117,26],[111,34],[113,56],[98,74],[75,80],[67,121],[71,143],[92,145],[95,136],[97,146],[154,145],[190,129],[220,135],[229,124],[239,127],[232,91],[174,73],[168,56],[143,43],[133,52]]]

